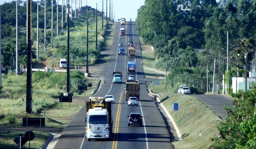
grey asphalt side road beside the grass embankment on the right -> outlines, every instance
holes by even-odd
[[[222,120],[228,117],[224,106],[233,108],[232,98],[227,95],[191,95],[196,97]]]

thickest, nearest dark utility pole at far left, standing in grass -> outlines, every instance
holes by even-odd
[[[32,0],[28,0],[28,46],[27,46],[27,92],[26,92],[26,113],[32,113],[32,49],[31,49],[31,10]]]

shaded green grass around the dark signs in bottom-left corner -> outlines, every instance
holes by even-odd
[[[0,148],[1,149],[14,149],[17,147],[15,142],[13,141],[16,136],[19,134],[25,135],[26,131],[5,131],[0,133]],[[35,138],[30,141],[31,149],[40,149],[42,148],[44,142],[46,142],[49,137],[49,133],[42,132],[40,135],[40,131],[33,131],[35,134]],[[23,147],[28,148],[29,142],[27,142]]]

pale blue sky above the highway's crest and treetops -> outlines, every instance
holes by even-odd
[[[0,5],[2,5],[5,2],[11,2],[11,1],[12,0],[0,0]],[[75,0],[72,0],[72,1],[73,1],[73,4],[72,4],[73,9],[75,9]],[[111,3],[113,3],[113,19],[115,18],[115,21],[117,21],[117,19],[126,18],[126,20],[132,19],[133,21],[135,21],[137,17],[137,10],[142,5],[144,5],[144,2],[145,0],[113,0],[113,1],[111,0]],[[71,3],[71,0],[69,1],[69,3]],[[97,3],[98,10],[102,11],[102,0],[87,0],[88,6],[91,6],[92,8],[95,8],[95,9],[96,9],[96,3]],[[109,17],[109,0],[107,0],[107,3],[108,3],[107,4],[108,17]],[[61,4],[62,4],[62,0],[59,0],[59,5]],[[76,8],[78,8],[78,6],[79,6],[79,3],[77,0]],[[82,6],[86,6],[86,0],[82,0]],[[111,9],[112,9],[112,4],[111,4]],[[103,0],[103,11],[105,12],[105,15],[106,15],[106,0]]]

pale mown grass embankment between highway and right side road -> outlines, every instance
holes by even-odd
[[[142,52],[142,57],[143,67],[155,66],[156,60],[153,52]],[[144,72],[152,73],[145,68]],[[154,78],[157,77],[154,76]],[[217,124],[222,120],[196,98],[177,94],[175,90],[170,91],[173,93],[168,93],[163,81],[160,81],[160,84],[158,87],[147,83],[147,86],[153,93],[161,95],[160,102],[166,107],[180,130],[182,140],[172,142],[174,147],[177,149],[209,148],[212,143],[211,138],[218,136]],[[177,113],[174,111],[174,103],[178,103],[179,106]]]

